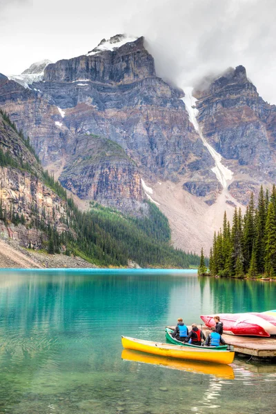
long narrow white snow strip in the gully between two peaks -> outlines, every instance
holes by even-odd
[[[234,173],[233,171],[231,171],[229,168],[227,168],[221,163],[221,159],[222,159],[221,155],[213,148],[213,146],[210,146],[210,144],[208,144],[204,135],[202,134],[201,128],[197,121],[197,114],[198,114],[198,111],[196,108],[197,99],[193,97],[192,92],[193,92],[193,87],[184,88],[185,97],[181,98],[181,100],[184,101],[185,103],[190,122],[195,127],[195,130],[199,133],[199,137],[201,137],[204,143],[204,146],[206,146],[206,148],[210,152],[210,155],[213,157],[215,161],[215,167],[212,168],[212,171],[215,172],[215,175],[218,181],[220,182],[221,186],[223,186],[223,188],[227,188],[228,187],[227,181],[230,181],[233,178]]]

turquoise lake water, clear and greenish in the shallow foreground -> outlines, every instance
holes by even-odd
[[[0,413],[275,414],[276,365],[217,371],[121,347],[121,335],[164,342],[179,316],[265,311],[275,297],[273,282],[190,271],[1,270]]]

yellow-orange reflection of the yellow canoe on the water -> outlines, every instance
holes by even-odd
[[[235,378],[233,368],[230,365],[206,364],[206,362],[197,361],[181,361],[180,359],[169,359],[159,357],[158,355],[130,351],[130,349],[123,349],[121,358],[126,359],[127,361],[166,366],[166,368],[178,369],[179,371],[187,371],[190,373],[215,375],[216,377],[224,378],[225,380],[233,380]]]

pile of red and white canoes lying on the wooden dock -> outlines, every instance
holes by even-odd
[[[270,337],[276,335],[276,318],[266,313],[219,313],[224,333]],[[206,326],[215,326],[215,315],[201,315]]]

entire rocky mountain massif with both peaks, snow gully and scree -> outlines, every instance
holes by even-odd
[[[117,35],[47,63],[28,88],[16,80],[0,75],[0,107],[43,166],[80,199],[128,213],[145,214],[147,195],[177,247],[207,250],[224,209],[230,218],[276,181],[276,108],[243,66],[199,84],[188,105],[157,77],[143,37]]]

